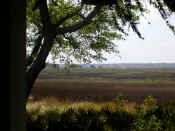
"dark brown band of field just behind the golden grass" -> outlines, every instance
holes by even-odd
[[[72,101],[111,101],[117,93],[124,93],[129,101],[142,101],[152,95],[160,101],[175,100],[175,86],[169,84],[117,84],[109,82],[84,82],[37,80],[32,96],[35,100],[55,97]]]

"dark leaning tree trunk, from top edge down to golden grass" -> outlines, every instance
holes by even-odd
[[[55,25],[52,25],[50,21],[47,1],[46,0],[40,1],[38,6],[40,10],[41,22],[43,24],[42,33],[44,37],[44,42],[26,76],[27,77],[26,78],[27,79],[27,95],[26,95],[27,98],[29,97],[31,93],[31,90],[33,88],[33,85],[39,73],[45,67],[45,61],[47,59],[47,56],[49,55],[49,52],[53,45],[53,41],[57,35],[56,27]]]

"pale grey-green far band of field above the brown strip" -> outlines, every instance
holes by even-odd
[[[157,82],[175,81],[173,69],[73,69],[71,72],[59,71],[54,68],[44,70],[39,79],[66,80],[105,80],[115,82]]]

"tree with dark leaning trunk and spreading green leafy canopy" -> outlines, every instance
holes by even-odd
[[[144,3],[141,0],[28,0],[28,84],[33,85],[49,53],[53,59],[67,63],[73,59],[84,63],[103,61],[104,52],[118,53],[114,41],[124,40],[128,29],[144,39],[137,28],[140,17],[147,12]],[[167,8],[169,2],[149,0],[149,3],[174,31],[167,21],[174,11]]]

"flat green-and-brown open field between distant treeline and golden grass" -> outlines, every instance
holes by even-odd
[[[44,70],[32,90],[34,100],[110,102],[118,93],[141,102],[152,95],[162,102],[175,100],[173,69],[74,69],[66,73]]]

